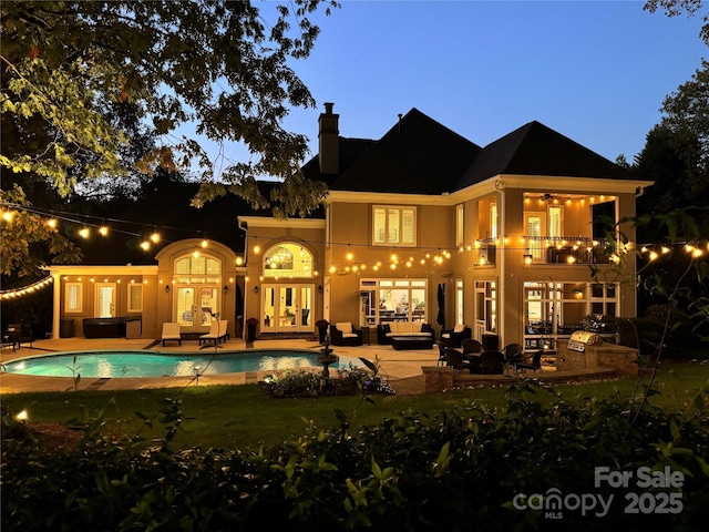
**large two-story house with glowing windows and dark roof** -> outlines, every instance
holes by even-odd
[[[280,336],[312,335],[325,318],[373,340],[398,320],[535,347],[590,314],[636,315],[624,283],[635,262],[615,263],[596,218],[635,215],[651,182],[538,122],[482,147],[412,109],[379,140],[348,139],[325,106],[318,154],[302,167],[329,186],[321,212],[235,211],[236,226],[220,224],[237,245],[175,239],[153,264],[111,275],[52,266],[54,336],[72,317],[140,316],[141,336],[157,338],[164,321],[202,331],[217,315],[237,335],[245,318]],[[634,228],[621,229],[633,243]]]

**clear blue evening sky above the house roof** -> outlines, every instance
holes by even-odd
[[[286,126],[315,155],[325,102],[348,137],[378,139],[417,108],[482,146],[537,120],[633,161],[665,96],[709,55],[700,17],[643,4],[341,0],[314,19],[316,48],[292,63],[318,108],[294,110]]]

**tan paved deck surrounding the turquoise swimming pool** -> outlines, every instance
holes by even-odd
[[[182,346],[175,345],[174,341],[152,345],[151,339],[125,339],[125,338],[61,338],[35,340],[30,347],[29,344],[22,344],[16,352],[12,349],[3,347],[0,352],[0,362],[8,362],[23,357],[49,355],[52,352],[72,352],[86,350],[104,350],[104,349],[129,349],[142,350],[146,349],[152,352],[196,352],[201,347],[196,340],[183,340]],[[238,350],[248,349],[244,339],[230,339],[224,344],[219,344],[219,350]],[[435,366],[439,358],[439,350],[433,349],[411,349],[394,350],[391,346],[369,345],[360,347],[349,346],[330,346],[336,355],[343,357],[367,358],[374,361],[379,359],[380,375],[387,378],[394,389],[398,383],[404,388],[404,382],[423,380],[421,368],[424,366]],[[254,349],[312,349],[318,351],[322,348],[317,341],[305,339],[288,340],[256,340],[253,344]],[[209,352],[208,348],[201,350],[204,355]],[[199,376],[199,386],[205,385],[244,385],[247,382],[257,382],[267,374],[273,371],[250,371],[243,374],[224,374],[224,375],[203,375]],[[157,378],[112,378],[80,379],[76,386],[80,390],[121,390],[121,389],[145,389],[145,388],[171,388],[183,387],[193,380],[188,377],[157,377]],[[419,386],[419,385],[417,385]],[[0,374],[0,393],[17,393],[24,391],[65,391],[74,388],[71,377],[34,377],[17,374]],[[399,390],[398,390],[399,391]],[[403,390],[402,390],[403,391]]]

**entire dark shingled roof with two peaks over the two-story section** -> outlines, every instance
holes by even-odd
[[[379,141],[339,137],[339,175],[320,174],[318,157],[307,178],[332,191],[442,194],[499,174],[629,178],[607,158],[540,122],[530,122],[484,149],[417,109]]]

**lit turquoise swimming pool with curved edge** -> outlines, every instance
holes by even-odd
[[[38,377],[136,378],[191,377],[199,375],[236,374],[244,371],[276,371],[319,367],[318,351],[249,349],[217,355],[165,354],[129,350],[76,351],[27,357],[6,362],[10,374]],[[74,359],[75,357],[75,359]],[[360,367],[358,358],[339,357],[332,369]]]

